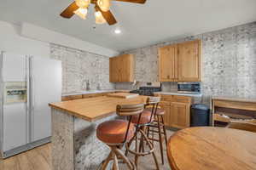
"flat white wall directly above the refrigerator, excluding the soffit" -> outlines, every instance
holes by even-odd
[[[49,43],[20,36],[21,26],[0,21],[0,50],[49,57]]]

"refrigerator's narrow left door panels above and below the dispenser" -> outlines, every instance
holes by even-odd
[[[25,55],[3,53],[2,78],[6,82],[26,82]],[[2,86],[3,88],[3,86]],[[2,89],[3,91],[3,89]],[[26,100],[26,99],[25,99]],[[2,101],[3,102],[3,101]],[[28,142],[28,105],[26,101],[3,105],[3,151],[14,149]]]

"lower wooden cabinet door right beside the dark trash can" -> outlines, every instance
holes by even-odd
[[[189,104],[171,103],[171,126],[177,128],[190,126]]]

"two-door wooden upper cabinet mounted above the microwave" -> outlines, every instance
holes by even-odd
[[[160,82],[201,82],[201,40],[158,49]]]

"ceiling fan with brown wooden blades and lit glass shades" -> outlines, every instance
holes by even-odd
[[[96,24],[114,25],[117,23],[110,11],[111,1],[120,1],[126,3],[146,3],[147,0],[75,0],[62,13],[63,18],[70,19],[73,14],[79,15],[80,18],[86,19],[90,3],[95,4]]]

